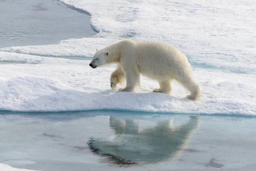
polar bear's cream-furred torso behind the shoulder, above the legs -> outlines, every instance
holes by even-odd
[[[152,79],[176,78],[190,74],[188,59],[177,48],[159,42],[136,42],[129,40],[139,72]],[[129,46],[127,46],[129,49]],[[185,73],[180,73],[180,72]]]

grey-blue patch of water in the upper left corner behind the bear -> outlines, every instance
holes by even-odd
[[[90,16],[56,0],[0,1],[0,48],[95,35]]]

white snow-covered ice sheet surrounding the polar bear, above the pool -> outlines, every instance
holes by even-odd
[[[1,111],[256,115],[255,1],[62,1],[90,13],[99,33],[45,46],[0,48]],[[127,38],[180,49],[201,84],[201,99],[185,99],[189,92],[177,83],[172,96],[152,93],[159,85],[144,77],[136,93],[112,90],[115,65],[93,70],[88,64],[96,48]]]

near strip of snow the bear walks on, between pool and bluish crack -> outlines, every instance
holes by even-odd
[[[223,113],[255,115],[253,74],[194,69],[204,91],[198,101],[185,98],[189,93],[174,84],[173,95],[152,93],[158,83],[141,78],[136,93],[117,92],[109,86],[115,65],[94,70],[90,60],[48,58],[0,52],[2,111],[58,112],[128,110],[172,113]],[[201,79],[204,78],[204,79]],[[125,86],[125,85],[121,85]],[[233,91],[230,91],[232,89]],[[124,98],[125,96],[125,98]],[[156,100],[157,99],[157,100]]]

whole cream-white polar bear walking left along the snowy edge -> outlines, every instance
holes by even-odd
[[[190,95],[188,99],[197,100],[201,88],[192,77],[192,68],[186,56],[176,48],[159,42],[137,42],[126,39],[97,50],[90,66],[96,68],[104,64],[116,63],[117,68],[111,74],[111,88],[126,79],[127,86],[119,91],[132,92],[140,83],[140,74],[157,80],[160,88],[153,92],[170,95],[172,81],[177,80]]]

